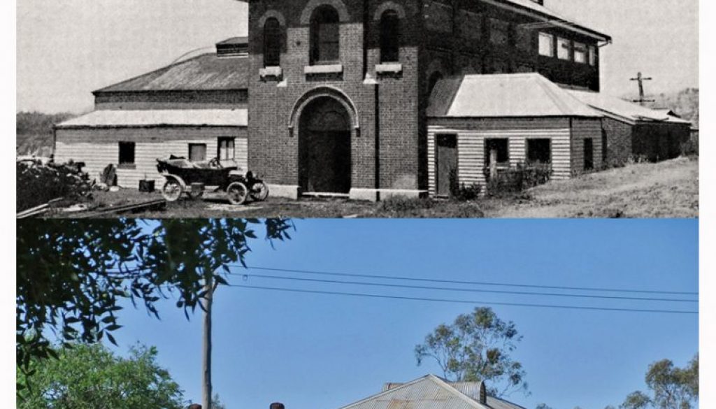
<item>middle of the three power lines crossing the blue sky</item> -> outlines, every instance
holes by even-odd
[[[454,288],[454,287],[425,287],[425,286],[415,286],[415,285],[407,285],[407,284],[385,284],[385,283],[375,283],[375,282],[347,282],[347,281],[329,280],[329,279],[308,279],[308,278],[289,277],[289,276],[268,276],[268,275],[263,275],[263,274],[241,274],[241,273],[230,273],[230,274],[234,275],[234,276],[256,277],[256,278],[261,278],[261,279],[279,279],[279,280],[291,280],[291,281],[299,281],[299,282],[350,284],[350,285],[364,285],[364,286],[370,286],[370,287],[390,287],[390,288],[403,288],[403,289],[429,289],[429,290],[436,290],[436,291],[535,295],[535,296],[541,296],[541,297],[621,299],[621,300],[653,301],[653,302],[699,302],[697,299],[669,299],[669,298],[653,298],[653,297],[618,297],[618,296],[589,295],[589,294],[558,294],[558,293],[543,293],[543,292],[504,291],[504,290],[494,290],[494,289],[491,290],[491,289],[465,289],[465,288]]]

